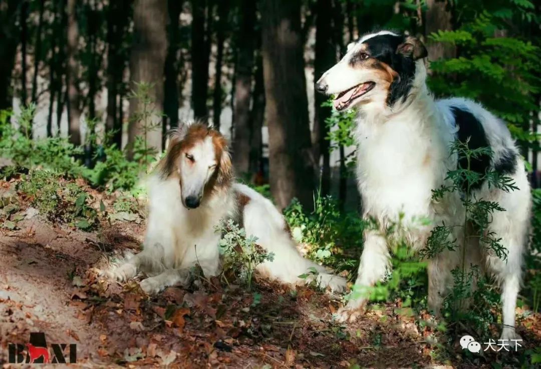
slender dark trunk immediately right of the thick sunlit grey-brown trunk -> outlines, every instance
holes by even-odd
[[[169,46],[167,48],[167,56],[164,67],[165,83],[163,92],[163,135],[162,144],[165,144],[167,126],[171,128],[179,126],[179,86],[178,69],[177,69],[177,54],[179,52],[179,17],[182,10],[182,1],[169,0],[168,13],[169,24],[167,34],[169,37]]]

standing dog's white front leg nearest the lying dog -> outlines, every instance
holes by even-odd
[[[375,282],[385,276],[388,266],[389,252],[385,238],[375,230],[367,230],[365,232],[365,244],[361,254],[359,272],[355,281],[355,289],[366,292],[367,288],[372,287]],[[353,322],[364,311],[368,296],[362,293],[361,296],[353,297],[346,306],[339,309],[337,313],[338,321]]]

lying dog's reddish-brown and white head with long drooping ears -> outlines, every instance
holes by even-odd
[[[204,123],[182,124],[171,131],[160,170],[164,179],[178,177],[182,205],[188,209],[199,207],[204,196],[228,186],[233,177],[225,137]]]

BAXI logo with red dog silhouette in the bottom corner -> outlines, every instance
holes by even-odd
[[[28,344],[9,344],[10,364],[74,364],[77,363],[77,345],[50,344],[49,351],[45,333],[32,332]]]

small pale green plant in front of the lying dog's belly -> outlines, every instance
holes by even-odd
[[[255,268],[262,262],[272,261],[274,254],[259,246],[257,238],[247,236],[245,229],[232,219],[223,221],[215,231],[222,234],[219,247],[224,258],[223,270],[232,271],[251,289]]]

